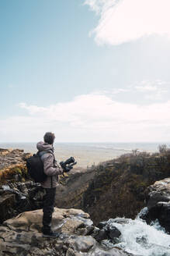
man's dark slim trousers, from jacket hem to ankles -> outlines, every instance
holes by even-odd
[[[54,201],[56,194],[56,187],[45,188],[46,194],[43,197],[43,233],[49,233],[52,214],[54,211]]]

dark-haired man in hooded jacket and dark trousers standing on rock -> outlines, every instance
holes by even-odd
[[[45,133],[43,137],[44,142],[38,142],[36,148],[43,161],[43,171],[47,174],[47,179],[41,183],[41,186],[46,190],[46,194],[43,198],[43,236],[56,238],[58,233],[52,232],[50,226],[52,214],[54,212],[58,175],[61,175],[63,170],[57,166],[57,162],[54,158],[54,139],[54,133]]]

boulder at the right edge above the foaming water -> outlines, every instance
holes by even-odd
[[[143,219],[147,223],[158,219],[161,226],[170,233],[170,178],[155,182],[145,193],[148,210]]]

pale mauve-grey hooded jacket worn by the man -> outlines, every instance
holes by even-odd
[[[43,161],[43,172],[47,174],[47,179],[41,183],[41,186],[44,188],[57,187],[58,175],[61,175],[63,170],[57,166],[53,145],[40,141],[36,144],[36,148]]]

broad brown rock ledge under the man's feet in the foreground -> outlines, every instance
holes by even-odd
[[[127,256],[120,248],[106,249],[93,238],[89,215],[76,209],[54,209],[52,227],[57,239],[42,236],[42,211],[23,212],[0,226],[0,255]],[[97,229],[98,230],[98,229]]]

